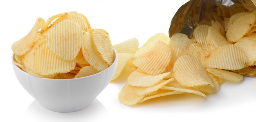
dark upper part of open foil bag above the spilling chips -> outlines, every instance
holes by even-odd
[[[256,0],[246,0],[255,6]],[[211,22],[212,13],[216,11],[218,3],[231,6],[235,3],[241,3],[241,0],[190,0],[182,5],[175,13],[169,28],[169,37],[175,33],[184,33],[191,37],[195,29],[195,23]]]

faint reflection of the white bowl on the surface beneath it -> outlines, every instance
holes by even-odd
[[[97,120],[99,116],[104,117],[108,115],[108,111],[106,107],[98,100],[95,99],[92,104],[81,110],[70,113],[58,113],[54,111],[49,111],[43,107],[41,107],[36,100],[34,100],[24,114],[24,119],[31,118],[36,120],[40,120],[42,122],[75,122],[75,121],[88,121],[88,120]]]

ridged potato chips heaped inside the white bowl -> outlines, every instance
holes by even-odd
[[[38,18],[30,32],[11,46],[23,71],[43,78],[79,78],[108,68],[115,60],[109,34],[91,28],[76,11]]]

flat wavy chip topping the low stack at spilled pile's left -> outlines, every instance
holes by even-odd
[[[145,74],[139,71],[132,72],[127,78],[127,84],[137,87],[150,87],[162,81],[164,78],[171,75],[171,72],[166,72],[158,75]]]

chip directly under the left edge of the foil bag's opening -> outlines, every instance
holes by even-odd
[[[184,33],[175,33],[170,37],[168,42],[169,47],[180,48],[182,51],[188,53],[188,47],[194,40],[189,39],[189,37]]]

